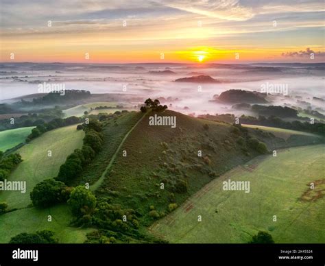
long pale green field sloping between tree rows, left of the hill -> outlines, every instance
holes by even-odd
[[[82,147],[84,132],[76,125],[45,132],[17,150],[23,158],[11,173],[10,181],[26,181],[27,191],[1,191],[0,202],[7,202],[8,208],[23,208],[31,203],[29,193],[34,186],[47,178],[57,176],[60,166],[74,149]],[[47,156],[51,151],[51,157]]]

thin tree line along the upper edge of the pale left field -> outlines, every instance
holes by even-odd
[[[82,119],[80,117],[67,117],[66,119],[53,119],[48,123],[40,123],[36,126],[36,128],[32,129],[32,133],[29,134],[26,138],[26,142],[31,141],[33,138],[37,138],[41,134],[49,131],[54,130],[56,128],[62,128],[67,125],[75,125],[76,123],[80,123]]]

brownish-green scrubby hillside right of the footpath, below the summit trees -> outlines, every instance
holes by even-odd
[[[96,191],[99,197],[112,197],[112,204],[136,210],[143,225],[155,220],[149,214],[153,208],[163,217],[169,204],[181,204],[221,173],[257,154],[237,143],[241,132],[234,132],[232,125],[168,110],[158,115],[176,116],[176,128],[152,126],[149,115],[153,114],[147,114],[128,136]]]

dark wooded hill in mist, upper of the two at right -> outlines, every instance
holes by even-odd
[[[229,104],[266,104],[262,93],[248,90],[226,90],[217,98]]]

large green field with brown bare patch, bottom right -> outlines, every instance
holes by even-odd
[[[276,243],[325,243],[324,161],[325,145],[254,158],[204,186],[150,232],[171,243],[247,243],[258,230]],[[224,191],[228,179],[250,181],[250,193]]]

